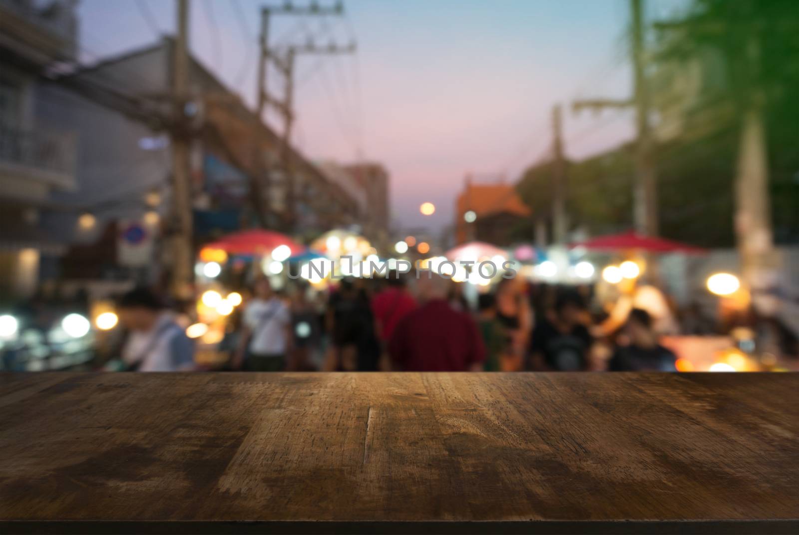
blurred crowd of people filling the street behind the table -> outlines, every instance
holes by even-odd
[[[319,292],[256,280],[228,322],[222,369],[249,371],[674,371],[654,318],[598,317],[592,289],[502,279],[477,299],[435,273],[344,278]],[[121,369],[198,369],[175,315],[145,289],[118,302]]]

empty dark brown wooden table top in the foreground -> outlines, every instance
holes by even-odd
[[[795,373],[0,374],[0,532],[799,533],[797,393]]]

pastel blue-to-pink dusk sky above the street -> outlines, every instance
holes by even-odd
[[[283,0],[190,2],[193,54],[247,102],[255,98],[258,13],[267,3]],[[648,16],[684,3],[650,0]],[[174,28],[169,0],[82,0],[79,9],[85,62]],[[308,36],[357,42],[354,56],[298,61],[294,142],[314,159],[382,162],[392,177],[392,220],[404,228],[450,225],[467,173],[519,178],[549,146],[556,103],[630,90],[627,0],[347,0],[345,11],[276,17],[271,26],[272,44]],[[280,90],[279,75],[270,79]],[[570,157],[632,135],[630,113],[565,111]],[[438,209],[428,218],[419,214],[425,201]]]

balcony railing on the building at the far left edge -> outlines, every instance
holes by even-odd
[[[75,166],[74,134],[0,125],[0,163],[69,175]]]

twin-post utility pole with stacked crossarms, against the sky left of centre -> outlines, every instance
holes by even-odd
[[[281,136],[281,147],[280,147],[280,159],[283,164],[284,174],[286,176],[286,225],[288,229],[292,228],[294,223],[294,177],[292,173],[292,162],[291,162],[291,146],[289,145],[289,140],[291,138],[291,130],[293,126],[293,116],[292,110],[290,106],[292,104],[292,94],[293,94],[293,57],[287,57],[284,62],[280,61],[280,58],[275,55],[275,51],[272,50],[269,46],[269,23],[272,21],[273,15],[314,15],[314,16],[324,16],[324,15],[340,15],[344,13],[344,4],[342,2],[337,1],[332,6],[320,6],[317,2],[311,2],[308,6],[294,6],[291,2],[286,2],[282,6],[264,6],[261,8],[260,11],[260,54],[258,58],[258,81],[257,81],[257,94],[256,94],[256,117],[258,121],[263,120],[264,110],[266,106],[272,105],[276,106],[276,108],[280,111],[280,114],[284,118],[284,131],[283,135]],[[293,56],[293,53],[288,54],[289,56]],[[268,71],[269,71],[269,62],[274,62],[276,66],[281,66],[284,71],[284,75],[288,72],[288,76],[286,76],[286,84],[285,84],[285,92],[286,96],[282,102],[277,101],[269,96],[268,90]],[[256,128],[258,126],[256,125]],[[254,165],[260,165],[260,150],[258,149],[258,143],[256,142],[257,137],[254,136],[253,138],[253,163]],[[271,174],[268,172],[265,176],[266,182],[264,184],[264,190],[270,192],[270,182],[271,182]],[[269,202],[269,195],[267,194],[266,202]]]

